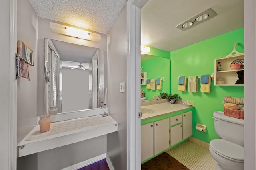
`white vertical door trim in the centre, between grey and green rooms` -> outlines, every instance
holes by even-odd
[[[140,8],[147,0],[127,2],[127,170],[140,170]]]

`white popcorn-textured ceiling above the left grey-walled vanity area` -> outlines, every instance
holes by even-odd
[[[38,17],[107,34],[126,0],[29,0]]]

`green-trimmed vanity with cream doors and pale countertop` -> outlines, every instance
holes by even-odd
[[[192,136],[193,110],[194,106],[170,104],[165,100],[142,104],[142,164]]]

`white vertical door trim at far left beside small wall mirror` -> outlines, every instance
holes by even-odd
[[[17,51],[17,2],[10,0],[10,92],[9,92],[9,170],[17,167],[17,81],[15,61]]]

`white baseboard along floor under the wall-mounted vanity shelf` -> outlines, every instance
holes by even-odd
[[[79,169],[79,168],[82,168],[82,167],[84,167],[84,166],[93,164],[93,163],[98,162],[98,161],[100,161],[100,160],[102,160],[102,159],[105,159],[105,158],[106,158],[106,153],[101,154],[101,155],[99,155],[99,156],[96,156],[96,157],[94,157],[94,158],[85,160],[85,161],[80,162],[80,163],[78,163],[78,164],[74,164],[74,165],[72,165],[72,166],[68,166],[68,167],[66,167],[66,168],[63,168],[62,170],[77,170],[77,169]],[[110,163],[111,163],[111,162],[110,162]],[[112,165],[112,164],[111,164],[111,165]],[[109,165],[108,165],[108,166],[109,166]],[[110,168],[110,170],[112,170],[112,169]],[[114,170],[114,168],[113,168],[113,170]]]

